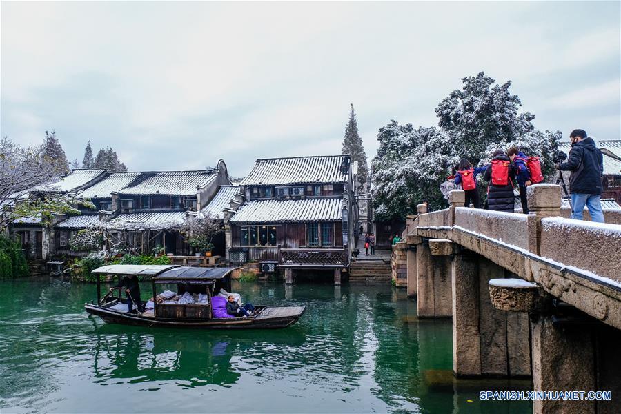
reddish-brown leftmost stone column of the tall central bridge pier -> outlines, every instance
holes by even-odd
[[[477,257],[463,252],[453,257],[453,372],[457,377],[481,375],[479,284]]]

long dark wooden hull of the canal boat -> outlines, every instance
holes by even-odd
[[[84,309],[110,324],[147,326],[161,328],[194,328],[194,329],[277,329],[295,324],[304,314],[304,306],[264,308],[255,317],[239,317],[230,319],[163,319],[146,317],[126,312],[114,311],[94,304],[85,304]]]

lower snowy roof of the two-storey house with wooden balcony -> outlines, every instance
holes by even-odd
[[[305,221],[339,221],[342,198],[267,199],[243,204],[231,217],[232,223],[294,223]]]

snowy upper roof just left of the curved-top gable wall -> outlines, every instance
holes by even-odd
[[[121,195],[196,195],[197,187],[215,180],[216,170],[141,172]]]

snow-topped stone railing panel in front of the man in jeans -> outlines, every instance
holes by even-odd
[[[561,217],[541,223],[542,257],[621,282],[621,225]]]

